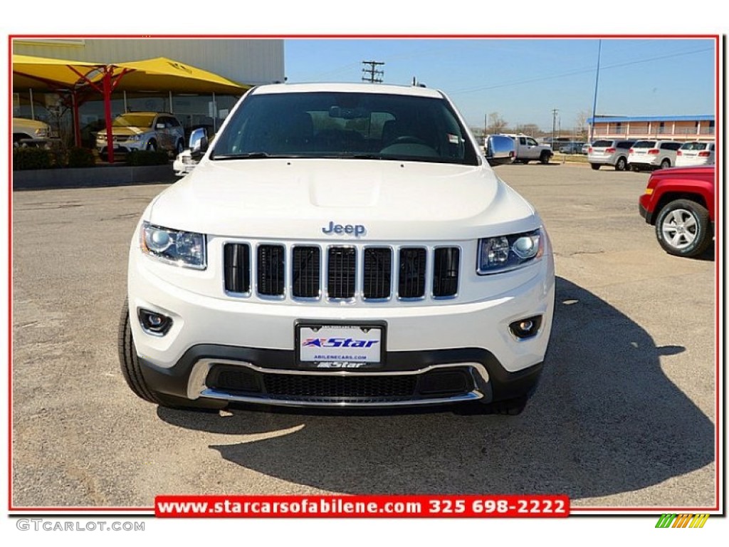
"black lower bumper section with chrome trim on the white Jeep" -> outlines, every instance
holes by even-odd
[[[295,368],[293,351],[201,344],[171,368],[139,362],[147,385],[165,395],[297,407],[490,403],[530,395],[542,373],[541,362],[507,372],[477,348],[391,352],[387,360],[386,371],[324,372]]]

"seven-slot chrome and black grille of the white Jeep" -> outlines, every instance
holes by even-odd
[[[453,298],[461,249],[227,243],[223,260],[230,295],[376,302]]]

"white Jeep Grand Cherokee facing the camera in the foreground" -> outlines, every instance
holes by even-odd
[[[122,373],[165,406],[518,414],[554,295],[542,220],[443,93],[262,85],[144,211]]]

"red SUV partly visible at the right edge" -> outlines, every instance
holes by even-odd
[[[638,200],[641,216],[671,255],[701,255],[714,237],[714,166],[654,171]]]

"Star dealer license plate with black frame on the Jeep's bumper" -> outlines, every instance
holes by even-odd
[[[381,325],[297,325],[297,358],[302,366],[359,368],[382,362]]]

